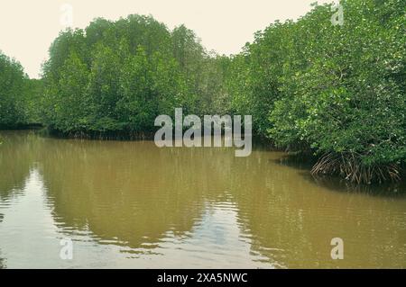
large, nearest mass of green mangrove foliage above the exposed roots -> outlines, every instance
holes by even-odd
[[[297,22],[256,33],[234,60],[234,101],[249,107],[257,132],[268,130],[281,147],[353,154],[361,166],[400,164],[406,158],[404,3],[340,3],[343,26],[331,24],[330,5],[316,5]]]

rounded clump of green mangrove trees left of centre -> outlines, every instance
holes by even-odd
[[[53,42],[43,68],[44,121],[63,133],[150,132],[156,116],[175,107],[203,114],[223,88],[217,62],[183,25],[169,31],[152,17],[97,19]]]

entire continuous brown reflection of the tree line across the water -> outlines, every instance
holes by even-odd
[[[391,261],[393,254],[406,254],[386,249],[405,248],[404,217],[397,218],[405,204],[365,193],[332,193],[334,187],[340,190],[338,184],[306,178],[304,168],[281,162],[281,153],[254,151],[238,158],[233,150],[160,149],[153,142],[33,142],[31,149],[20,144],[21,151],[14,151],[14,160],[22,157],[14,164],[20,177],[39,162],[57,224],[89,229],[102,242],[153,248],[168,232],[189,237],[208,204],[233,202],[252,252],[276,266],[332,266],[329,240],[337,236],[363,243],[346,247],[357,256],[343,262],[346,266],[400,266],[400,260]],[[12,157],[6,160],[14,163]]]

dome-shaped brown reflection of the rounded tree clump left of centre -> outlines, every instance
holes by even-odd
[[[43,178],[55,220],[129,247],[155,246],[169,231],[184,236],[205,202],[226,190],[224,175],[217,173],[222,165],[193,160],[200,148],[51,140],[44,150]]]

